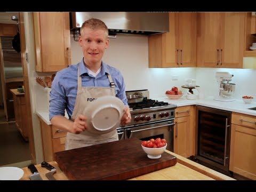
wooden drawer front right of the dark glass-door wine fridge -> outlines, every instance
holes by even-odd
[[[256,129],[256,116],[233,112],[231,123]]]

